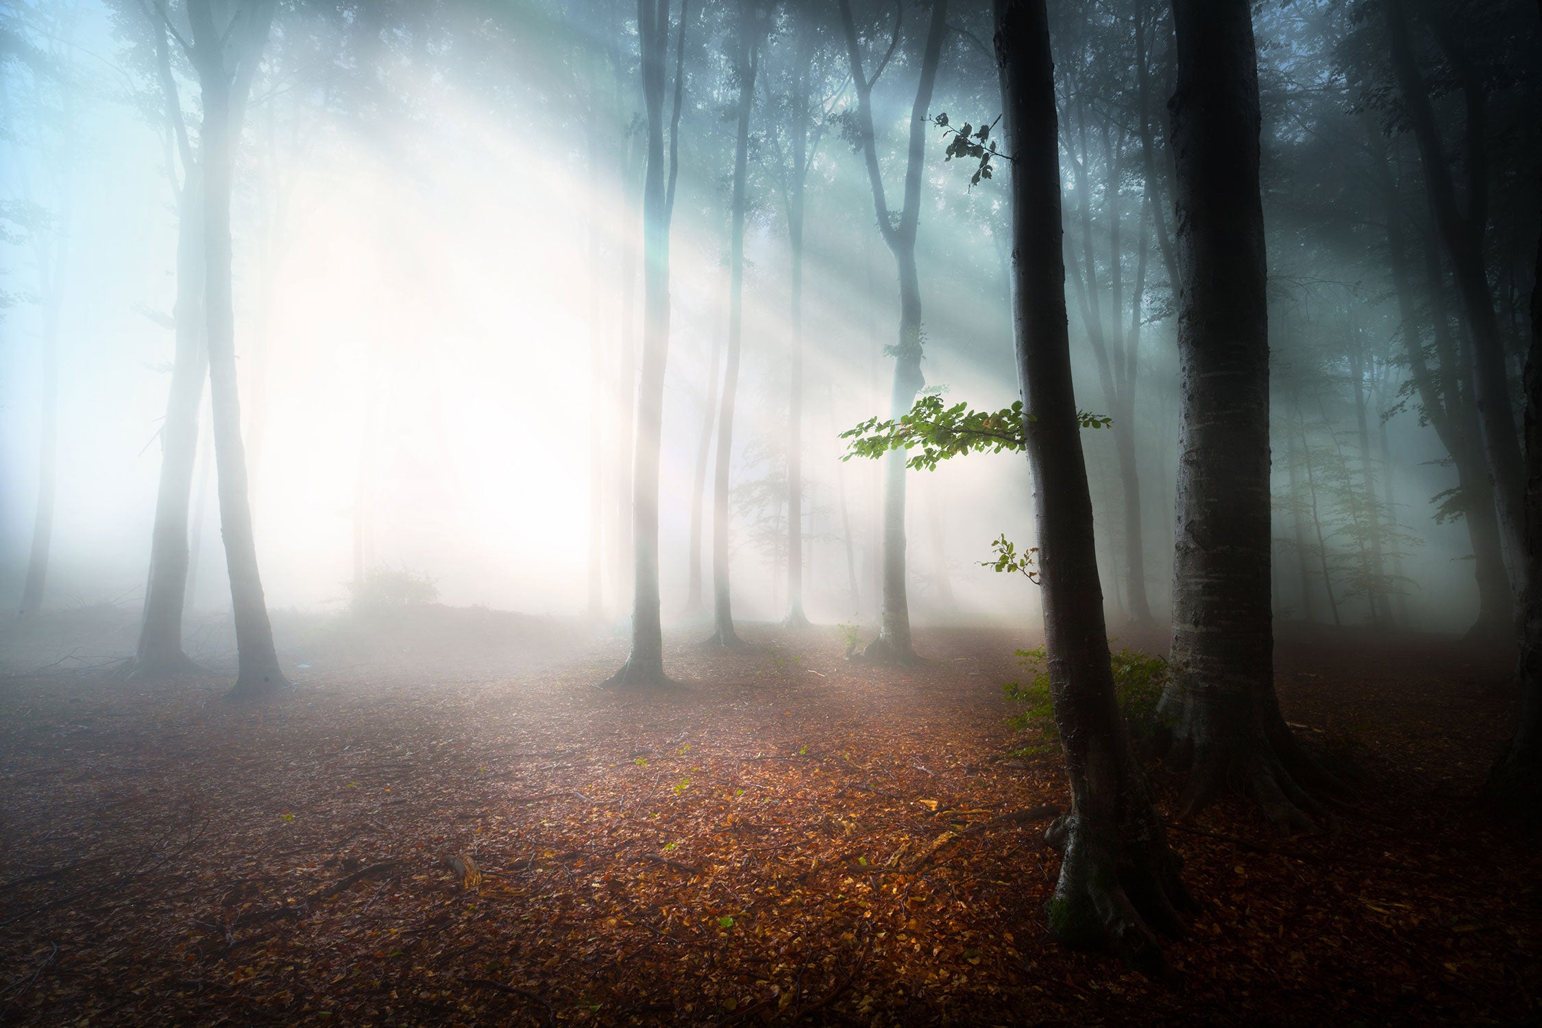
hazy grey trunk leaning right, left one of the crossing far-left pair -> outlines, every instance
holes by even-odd
[[[176,358],[167,416],[160,422],[160,487],[150,536],[150,580],[139,647],[130,661],[134,678],[197,670],[182,652],[182,615],[188,590],[188,506],[197,462],[197,419],[208,378],[204,316],[204,190],[187,168],[177,197]]]

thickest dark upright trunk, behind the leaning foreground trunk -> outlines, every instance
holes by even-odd
[[[1246,0],[1173,0],[1178,83],[1178,442],[1170,757],[1181,811],[1240,791],[1284,829],[1334,786],[1274,692],[1269,609],[1269,327],[1258,193],[1258,66]]]

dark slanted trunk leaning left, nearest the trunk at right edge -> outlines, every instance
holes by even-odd
[[[1468,170],[1468,202],[1463,211],[1457,205],[1456,185],[1451,166],[1446,163],[1445,143],[1440,140],[1429,91],[1412,51],[1405,0],[1386,0],[1382,6],[1391,42],[1392,74],[1403,97],[1414,140],[1419,143],[1429,210],[1451,260],[1471,334],[1468,356],[1483,455],[1493,482],[1499,530],[1510,552],[1517,556],[1513,569],[1516,592],[1523,592],[1527,567],[1520,555],[1525,553],[1525,470],[1510,405],[1510,375],[1505,368],[1505,347],[1494,313],[1494,297],[1488,287],[1483,247],[1488,223],[1488,154],[1483,137],[1486,97],[1471,59],[1462,45],[1451,39],[1451,26],[1443,22],[1433,25],[1436,39],[1442,42],[1456,68],[1466,108],[1463,160]]]

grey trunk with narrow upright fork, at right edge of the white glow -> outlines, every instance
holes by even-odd
[[[663,119],[669,0],[637,0],[643,105],[648,109],[648,170],[643,177],[643,373],[637,385],[637,430],[632,450],[632,649],[626,663],[601,686],[649,686],[668,681],[658,612],[658,439],[665,415],[665,370],[669,364],[669,219],[674,213],[675,177],[680,170],[688,8],[689,0],[682,0],[666,174]]]

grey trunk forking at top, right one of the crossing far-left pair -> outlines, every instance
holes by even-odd
[[[210,0],[190,0],[191,57],[204,96],[204,313],[208,317],[208,376],[214,412],[214,461],[219,472],[219,524],[236,623],[236,686],[231,695],[258,700],[284,687],[273,646],[273,626],[258,572],[247,493],[247,458],[241,439],[236,384],[236,319],[231,301],[230,194],[241,111],[267,43],[274,0],[233,5],[230,22],[216,26]],[[234,54],[234,66],[227,63]]]

